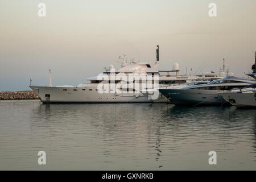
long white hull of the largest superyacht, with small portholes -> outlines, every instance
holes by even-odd
[[[152,102],[143,94],[100,94],[97,88],[70,88],[30,86],[43,104],[46,103],[117,103],[117,102]]]

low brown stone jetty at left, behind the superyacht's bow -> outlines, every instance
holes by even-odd
[[[34,91],[0,92],[0,100],[32,100],[39,99]]]

